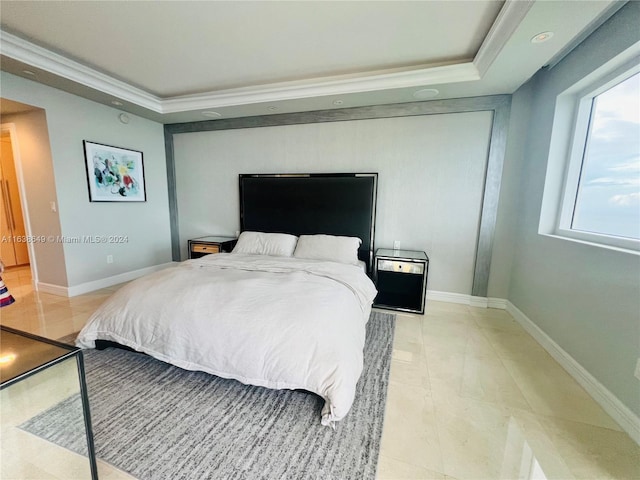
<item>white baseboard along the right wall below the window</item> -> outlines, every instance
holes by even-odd
[[[640,417],[602,385],[593,375],[553,341],[540,327],[531,321],[518,307],[506,301],[507,311],[542,347],[571,375],[589,395],[607,412],[638,444],[640,444]]]

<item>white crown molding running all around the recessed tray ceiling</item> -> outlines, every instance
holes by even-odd
[[[414,68],[255,85],[168,98],[153,95],[3,30],[0,30],[0,53],[150,111],[159,114],[180,113],[263,102],[477,81],[482,79],[533,3],[534,0],[508,0],[472,62],[421,65]]]

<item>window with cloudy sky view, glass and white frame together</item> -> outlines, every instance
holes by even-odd
[[[639,251],[640,65],[596,73],[558,97],[549,161],[564,180],[555,226],[544,231],[541,217],[541,233]]]

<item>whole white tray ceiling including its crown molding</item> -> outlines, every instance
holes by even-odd
[[[513,93],[623,4],[1,0],[0,67],[162,123]]]

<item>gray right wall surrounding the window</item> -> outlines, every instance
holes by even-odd
[[[638,42],[638,25],[640,3],[630,2],[514,95],[505,162],[520,167],[518,176],[505,172],[501,202],[501,231],[513,240],[494,251],[512,262],[509,300],[636,415],[640,256],[542,236],[538,227],[556,96]]]

